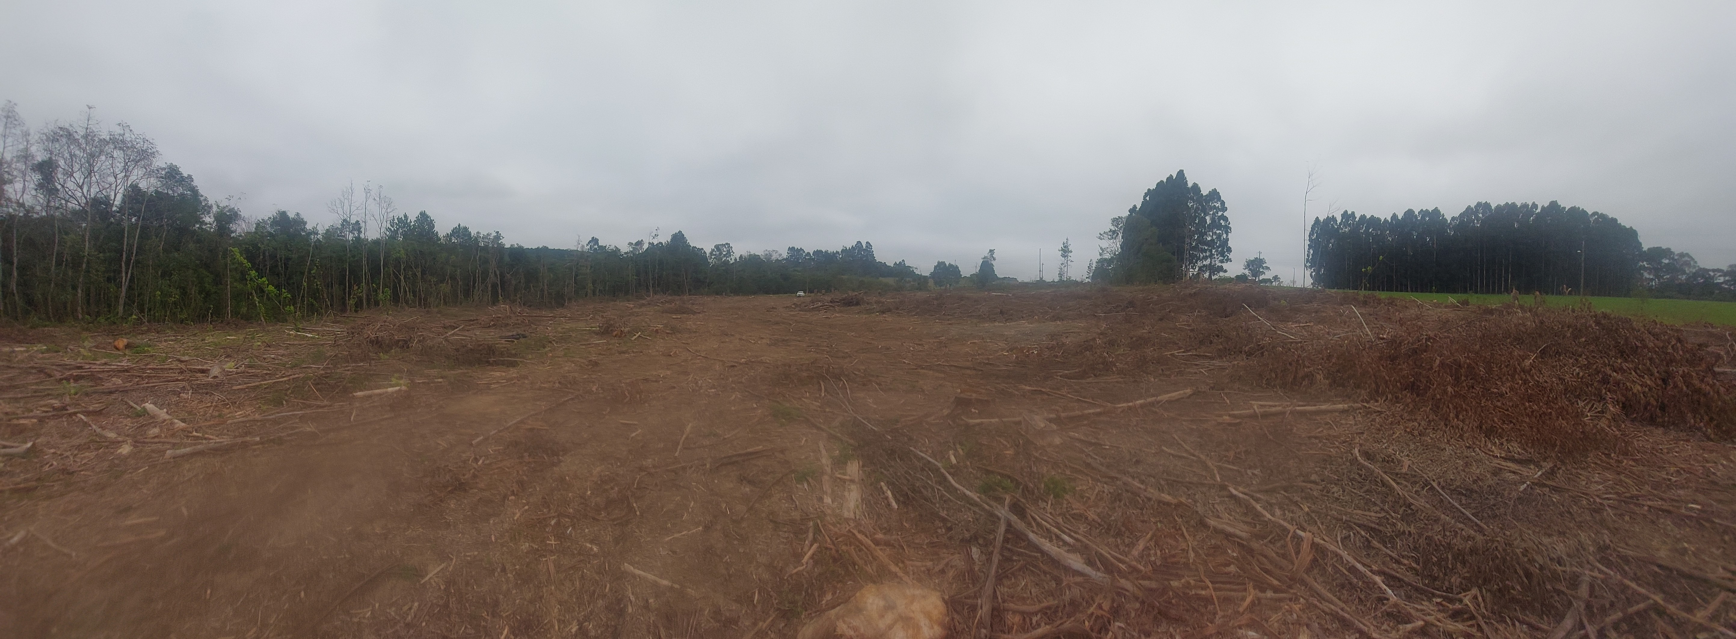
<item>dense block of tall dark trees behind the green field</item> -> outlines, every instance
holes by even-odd
[[[1557,201],[1321,217],[1307,269],[1316,287],[1391,292],[1729,299],[1736,285],[1736,266],[1703,269],[1693,255],[1644,248],[1614,217]]]

